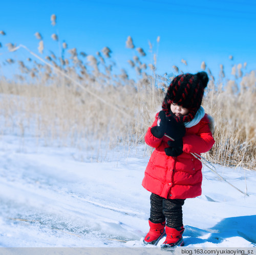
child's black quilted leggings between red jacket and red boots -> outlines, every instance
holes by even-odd
[[[166,199],[154,193],[150,196],[150,221],[161,223],[166,219],[168,227],[179,228],[182,223],[182,205],[185,199]]]

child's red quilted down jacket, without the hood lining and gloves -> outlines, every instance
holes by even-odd
[[[157,117],[152,127],[157,125]],[[147,164],[142,186],[161,197],[186,199],[202,194],[202,163],[190,152],[207,152],[215,141],[209,129],[207,114],[195,126],[186,128],[183,136],[183,153],[178,157],[165,154],[169,138],[156,138],[148,128],[145,135],[147,145],[156,148]]]

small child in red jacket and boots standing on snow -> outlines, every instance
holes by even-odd
[[[152,192],[150,230],[144,244],[156,245],[166,233],[161,247],[184,245],[182,205],[186,198],[202,194],[202,164],[190,152],[207,152],[215,143],[201,107],[208,80],[205,72],[177,76],[145,135],[146,144],[155,150],[142,181],[142,186]]]

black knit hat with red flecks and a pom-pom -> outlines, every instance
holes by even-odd
[[[183,74],[174,78],[170,83],[165,95],[162,109],[167,117],[173,115],[177,122],[189,122],[194,119],[201,106],[204,88],[207,86],[209,78],[205,72],[197,74]],[[170,110],[172,103],[189,109],[187,115],[177,117]]]

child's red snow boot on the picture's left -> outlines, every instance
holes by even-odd
[[[165,235],[165,221],[162,223],[153,223],[148,220],[148,223],[150,224],[150,231],[145,236],[143,243],[157,245],[159,240]]]

